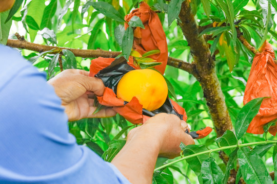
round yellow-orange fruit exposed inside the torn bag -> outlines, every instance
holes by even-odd
[[[136,97],[143,108],[149,111],[160,108],[165,103],[167,94],[164,77],[151,69],[130,71],[117,85],[117,98],[130,102]]]

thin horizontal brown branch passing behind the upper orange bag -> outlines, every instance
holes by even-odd
[[[71,49],[71,48],[64,48],[64,47],[59,48],[54,46],[31,43],[26,41],[25,39],[20,39],[20,40],[8,39],[7,46],[12,48],[27,49],[27,50],[36,51],[39,53],[50,51],[53,49],[53,52],[49,54],[56,54],[57,51],[59,50],[67,49],[67,50],[70,50],[76,57],[82,57],[82,58],[97,58],[97,57],[115,58],[116,56],[121,54],[121,52],[104,51],[101,49],[84,50],[84,49]],[[193,64],[189,62],[168,57],[167,64],[176,68],[180,68],[181,70],[184,70],[192,75],[195,75],[193,71]]]

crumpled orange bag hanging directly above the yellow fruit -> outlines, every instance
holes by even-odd
[[[129,22],[133,16],[140,17],[145,27],[145,29],[140,27],[134,29],[133,49],[141,55],[148,51],[160,50],[159,54],[154,54],[148,57],[157,62],[162,62],[161,65],[157,65],[154,68],[161,74],[164,74],[167,64],[168,50],[166,35],[159,16],[144,2],[140,3],[140,8],[137,8],[130,14],[126,15],[125,21]],[[128,27],[129,25],[125,23],[125,29]],[[129,62],[133,63],[133,57],[129,57]],[[139,68],[138,66],[134,67],[136,69]]]

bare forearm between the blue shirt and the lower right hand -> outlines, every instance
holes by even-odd
[[[138,134],[127,141],[111,163],[133,184],[152,183],[159,146],[153,134]]]

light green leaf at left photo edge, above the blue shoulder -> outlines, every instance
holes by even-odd
[[[5,11],[0,13],[0,44],[7,44],[9,32],[12,24],[12,20],[10,19],[7,23],[5,20],[7,19],[9,11]]]

